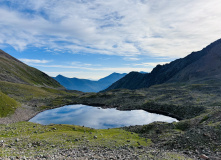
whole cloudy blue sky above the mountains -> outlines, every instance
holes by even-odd
[[[221,38],[220,0],[0,0],[0,49],[50,76],[151,72]]]

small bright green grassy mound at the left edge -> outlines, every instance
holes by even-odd
[[[20,104],[0,91],[0,117],[6,117],[16,110]]]

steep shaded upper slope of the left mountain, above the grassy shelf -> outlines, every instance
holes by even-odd
[[[45,73],[29,67],[2,50],[0,50],[0,81],[63,88],[63,86]]]

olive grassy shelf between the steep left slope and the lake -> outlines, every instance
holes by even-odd
[[[65,90],[3,81],[0,81],[0,91],[22,104],[35,107],[37,110],[45,109],[45,106],[51,108],[70,104],[72,103],[71,98],[82,94],[78,91],[67,92]],[[57,99],[61,99],[61,101]]]

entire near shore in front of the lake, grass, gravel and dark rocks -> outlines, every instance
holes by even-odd
[[[221,110],[180,122],[95,130],[19,122],[0,125],[0,159],[211,159],[221,157]]]

